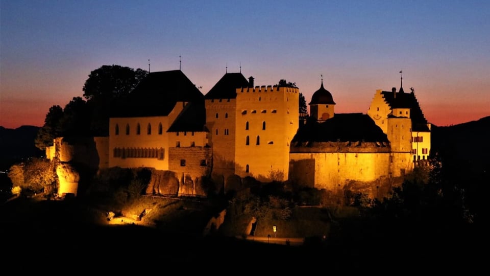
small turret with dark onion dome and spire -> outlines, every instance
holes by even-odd
[[[332,94],[323,87],[316,90],[311,96],[310,116],[318,122],[328,120],[334,116],[335,102],[333,101]]]

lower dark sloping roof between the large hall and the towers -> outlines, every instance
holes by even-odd
[[[188,103],[167,132],[204,131],[206,108],[204,101]]]

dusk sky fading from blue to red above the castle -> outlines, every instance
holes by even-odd
[[[335,112],[415,89],[426,119],[490,116],[490,1],[0,0],[0,126],[42,126],[91,71],[179,69],[206,94],[228,72],[324,86]]]

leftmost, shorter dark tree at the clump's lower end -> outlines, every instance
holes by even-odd
[[[37,132],[34,144],[40,150],[53,146],[53,139],[61,134],[61,119],[63,118],[63,109],[59,105],[53,105],[46,114],[44,125]]]

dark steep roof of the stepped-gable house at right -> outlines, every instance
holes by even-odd
[[[419,102],[414,93],[404,93],[403,88],[396,93],[393,91],[381,91],[381,95],[386,103],[393,108],[410,108],[410,119],[412,121],[412,131],[429,131],[427,120],[420,108]]]

